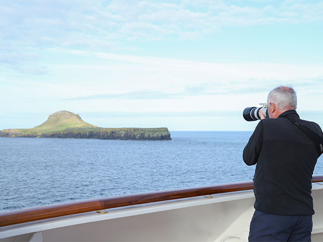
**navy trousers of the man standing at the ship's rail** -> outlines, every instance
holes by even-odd
[[[255,211],[249,241],[311,241],[312,215],[275,215]]]

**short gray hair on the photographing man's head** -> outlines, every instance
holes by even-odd
[[[273,89],[267,97],[267,105],[270,102],[274,103],[276,107],[281,110],[290,110],[297,107],[296,92],[292,87],[279,86]]]

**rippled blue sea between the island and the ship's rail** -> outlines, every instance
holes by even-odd
[[[0,212],[252,180],[252,132],[171,131],[170,141],[0,137]],[[323,157],[314,174],[323,174]]]

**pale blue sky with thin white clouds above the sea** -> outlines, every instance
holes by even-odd
[[[291,85],[323,127],[323,1],[0,0],[0,130],[68,110],[105,128],[252,131]]]

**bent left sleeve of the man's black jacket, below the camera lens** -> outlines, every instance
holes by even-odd
[[[246,147],[243,150],[243,161],[247,165],[254,165],[258,161],[262,144],[262,122],[258,123],[253,134],[251,135]]]

